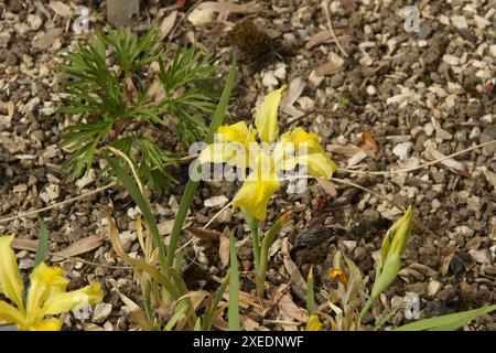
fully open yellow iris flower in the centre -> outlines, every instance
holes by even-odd
[[[267,205],[281,188],[278,178],[280,171],[292,170],[300,164],[313,178],[330,178],[337,170],[316,133],[296,128],[282,133],[278,140],[278,109],[285,89],[287,86],[283,85],[265,97],[257,111],[255,128],[248,127],[245,121],[222,126],[217,130],[216,142],[198,156],[201,163],[225,162],[241,170],[251,168],[235,195],[233,205],[245,208],[259,221],[266,218]],[[257,143],[257,136],[260,145]],[[302,153],[302,148],[306,152]]]

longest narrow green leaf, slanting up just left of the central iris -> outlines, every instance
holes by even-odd
[[[229,68],[229,75],[227,76],[226,85],[224,86],[223,95],[220,96],[220,100],[217,105],[217,109],[215,110],[214,118],[212,119],[211,127],[208,129],[208,133],[205,138],[206,143],[212,143],[214,141],[214,135],[217,132],[217,129],[224,121],[224,117],[226,115],[227,105],[229,103],[230,94],[234,88],[235,78],[236,78],[236,55],[233,57],[233,62]],[[198,164],[196,164],[198,165]],[[183,197],[181,199],[181,203],[177,210],[177,214],[175,216],[174,225],[172,226],[169,247],[168,247],[168,265],[172,266],[174,263],[175,249],[177,246],[177,238],[181,234],[181,231],[184,225],[184,221],[186,220],[187,210],[190,208],[191,203],[193,202],[193,196],[196,192],[196,189],[200,185],[200,181],[190,181],[186,184],[186,189],[184,190]]]

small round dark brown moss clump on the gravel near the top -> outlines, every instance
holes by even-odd
[[[272,40],[251,20],[245,20],[235,25],[229,35],[233,46],[246,56],[248,61],[257,61],[272,50]]]

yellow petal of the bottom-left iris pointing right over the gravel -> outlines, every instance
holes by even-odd
[[[46,299],[42,310],[45,315],[56,315],[73,309],[91,306],[96,302],[100,302],[103,299],[104,292],[100,284],[96,282],[82,289],[51,296]]]

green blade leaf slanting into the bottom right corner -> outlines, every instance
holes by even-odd
[[[496,310],[496,304],[485,306],[478,309],[450,313],[448,315],[419,320],[406,325],[396,328],[393,331],[454,331],[467,324],[478,317]]]

